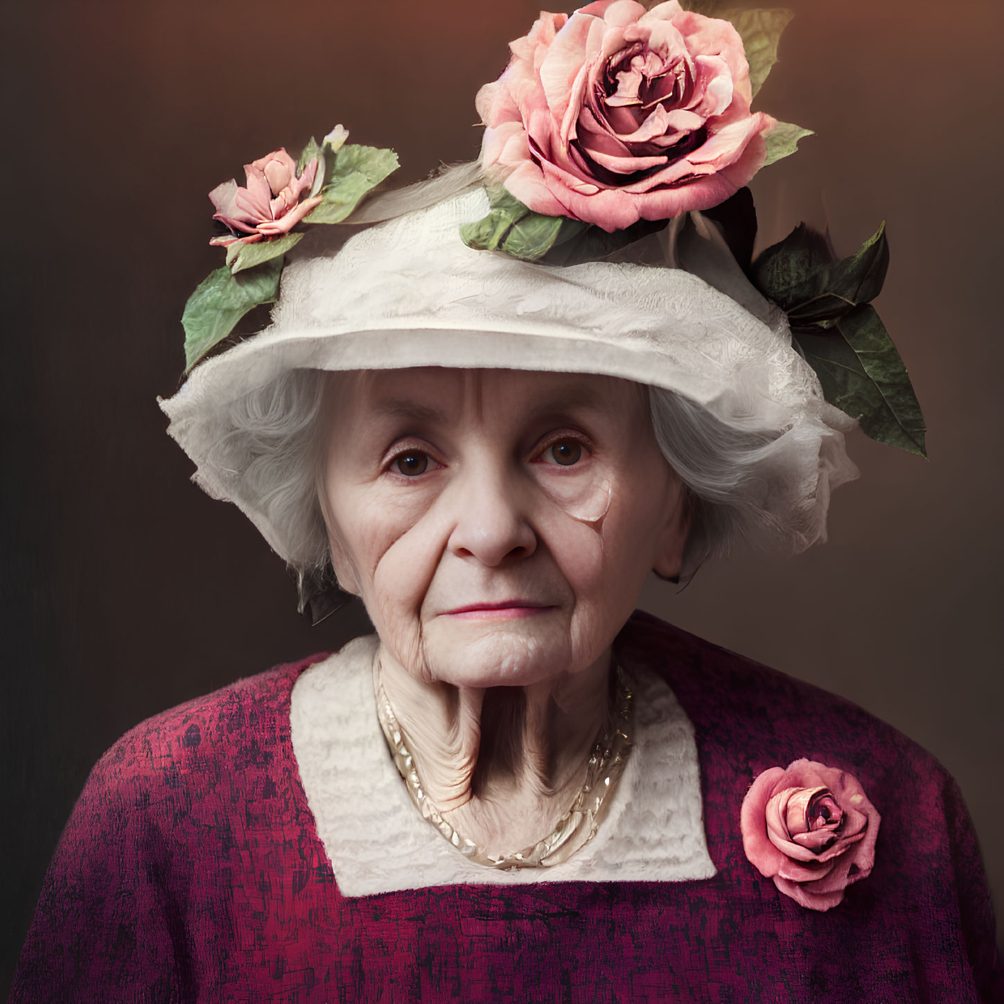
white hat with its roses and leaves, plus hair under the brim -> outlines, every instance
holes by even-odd
[[[822,539],[831,490],[856,475],[843,433],[859,420],[923,454],[924,422],[870,305],[884,227],[849,258],[798,227],[751,260],[744,186],[809,135],[751,105],[789,19],[677,0],[543,12],[479,91],[477,164],[360,206],[397,155],[339,126],[214,189],[226,266],[186,307],[190,366],[278,294],[269,327],[163,403],[198,483],[300,571],[322,568],[322,371],[601,373],[654,389],[656,438],[695,506],[685,561],[737,532]],[[313,239],[343,222],[368,229]]]

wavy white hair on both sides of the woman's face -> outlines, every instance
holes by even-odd
[[[226,406],[230,432],[216,449],[240,494],[258,499],[271,525],[290,542],[288,563],[306,599],[305,583],[330,563],[327,529],[318,496],[325,372],[290,369]],[[778,433],[726,425],[680,395],[649,389],[659,448],[685,489],[690,521],[684,556],[689,574],[708,556],[755,539],[770,524],[760,471]],[[772,527],[775,531],[783,529]]]

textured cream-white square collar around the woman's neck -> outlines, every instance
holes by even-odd
[[[669,685],[624,665],[634,749],[596,835],[562,864],[500,871],[468,861],[418,813],[376,719],[376,637],[355,639],[293,687],[293,752],[343,896],[430,886],[710,878],[694,729]]]

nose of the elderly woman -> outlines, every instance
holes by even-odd
[[[507,559],[528,557],[537,535],[527,521],[525,486],[501,465],[478,465],[460,475],[452,493],[456,511],[449,549],[496,567]]]

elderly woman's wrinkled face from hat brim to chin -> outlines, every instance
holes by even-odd
[[[320,485],[335,571],[425,681],[593,665],[648,572],[679,570],[680,484],[645,389],[503,369],[332,374]]]

